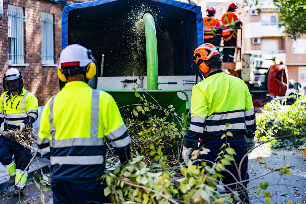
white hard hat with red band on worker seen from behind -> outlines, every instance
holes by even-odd
[[[59,56],[58,69],[65,66],[85,67],[91,62],[93,62],[93,59],[90,50],[81,45],[72,44],[62,50]]]

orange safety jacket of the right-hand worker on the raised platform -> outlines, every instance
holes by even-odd
[[[227,13],[224,13],[222,16],[222,25],[223,25],[223,30],[222,30],[222,36],[223,40],[229,41],[233,35],[237,35],[237,31],[235,28],[236,23],[241,22],[238,14],[236,12],[231,12],[228,11]],[[227,27],[227,28],[225,28]]]

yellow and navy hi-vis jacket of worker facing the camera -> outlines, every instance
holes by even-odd
[[[19,129],[15,124],[22,123],[28,116],[37,120],[38,100],[24,87],[15,96],[11,96],[10,91],[4,92],[0,102],[0,122],[4,121],[4,130]]]

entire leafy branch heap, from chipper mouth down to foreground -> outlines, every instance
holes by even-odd
[[[268,182],[246,189],[242,185],[244,181],[237,178],[237,191],[230,191],[226,186],[226,191],[218,190],[223,188],[218,185],[219,180],[223,179],[221,172],[226,171],[226,165],[235,162],[235,151],[226,148],[225,144],[220,149],[218,161],[214,164],[207,165],[207,161],[199,167],[189,161],[188,167],[185,167],[180,158],[181,144],[189,118],[184,114],[178,116],[171,105],[163,109],[147,102],[144,95],[140,96],[136,90],[134,91],[141,103],[135,104],[132,110],[125,107],[121,110],[121,115],[131,135],[132,153],[136,156],[125,165],[116,164],[117,158],[112,153],[108,156],[106,174],[103,176],[108,187],[105,188],[104,194],[110,196],[111,202],[243,203],[238,195],[250,193],[251,189],[258,188],[253,196],[258,199],[265,198],[265,203],[270,203],[272,195],[266,191]],[[165,117],[152,116],[150,113],[154,109],[164,112]],[[174,119],[171,121],[169,117]],[[179,120],[175,120],[178,117]],[[230,132],[224,135],[226,136],[231,136]],[[205,148],[196,150],[192,153],[191,159],[194,161],[198,154],[208,152]],[[236,165],[238,169],[239,164]],[[287,173],[288,168],[286,166],[282,169],[282,174]],[[274,171],[277,170],[280,169]]]

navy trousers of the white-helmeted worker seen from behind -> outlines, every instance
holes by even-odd
[[[52,179],[52,178],[51,178]],[[71,184],[67,182],[51,182],[54,204],[87,204],[109,203],[108,197],[104,196],[106,184],[100,182],[87,184]],[[90,202],[95,201],[95,202]]]

